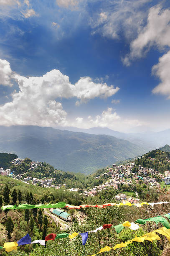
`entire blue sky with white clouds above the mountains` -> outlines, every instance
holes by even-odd
[[[0,0],[0,125],[170,128],[169,0]]]

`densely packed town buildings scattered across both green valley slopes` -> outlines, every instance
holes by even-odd
[[[14,159],[11,161],[14,165],[20,165],[22,164],[24,159]],[[37,166],[41,166],[42,163],[38,161],[32,161],[29,164],[29,170],[34,170],[37,168]],[[98,175],[97,177],[94,177],[94,180],[105,178],[104,184],[99,184],[94,186],[89,191],[84,190],[81,191],[81,195],[83,196],[95,196],[98,195],[99,192],[102,190],[106,190],[109,187],[112,187],[116,190],[118,190],[122,185],[127,185],[129,187],[133,187],[136,184],[145,184],[149,187],[149,189],[155,188],[157,192],[160,191],[160,182],[164,181],[164,184],[170,183],[170,172],[167,170],[163,174],[160,174],[160,172],[156,171],[152,168],[146,168],[139,165],[139,169],[137,172],[133,172],[134,169],[134,162],[129,162],[128,164],[122,164],[117,166],[116,164],[113,164],[112,167],[108,167],[105,173]],[[10,169],[4,170],[2,167],[0,168],[0,174],[3,176],[9,176],[13,179],[18,179],[25,184],[33,184],[40,187],[53,187],[56,189],[60,189],[61,187],[67,187],[67,184],[54,184],[55,178],[49,178],[49,177],[43,177],[41,179],[37,179],[36,177],[25,177],[25,174],[17,174],[10,172]],[[73,192],[79,192],[79,188],[71,188],[69,189]],[[138,197],[138,195],[137,195]],[[116,195],[116,200],[126,200],[127,196],[125,194]],[[128,199],[130,202],[138,202],[139,198]]]

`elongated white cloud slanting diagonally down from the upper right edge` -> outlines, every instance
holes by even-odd
[[[162,10],[160,5],[150,8],[147,25],[132,41],[130,54],[123,59],[124,64],[129,66],[131,60],[142,57],[153,45],[159,49],[170,46],[170,9]]]

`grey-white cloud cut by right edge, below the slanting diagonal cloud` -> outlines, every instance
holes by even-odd
[[[167,95],[170,99],[170,51],[159,58],[159,63],[152,67],[152,74],[159,77],[161,81],[152,92]]]

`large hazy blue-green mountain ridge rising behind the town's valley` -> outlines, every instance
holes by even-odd
[[[90,173],[146,151],[114,136],[38,126],[0,126],[0,152],[46,161],[64,171]]]

